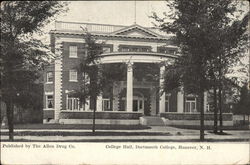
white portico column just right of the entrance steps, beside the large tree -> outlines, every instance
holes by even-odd
[[[165,92],[163,90],[164,87],[164,72],[165,72],[165,66],[161,66],[160,68],[160,113],[165,112]]]

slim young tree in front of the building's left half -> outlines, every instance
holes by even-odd
[[[92,132],[95,132],[96,100],[101,93],[104,83],[102,82],[102,68],[99,65],[99,55],[102,53],[102,43],[97,43],[93,36],[84,30],[84,40],[86,56],[84,56],[77,70],[82,75],[80,77],[80,89],[72,92],[72,95],[79,98],[81,105],[90,100],[90,109],[93,109]]]

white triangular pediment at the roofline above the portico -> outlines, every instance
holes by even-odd
[[[137,24],[122,28],[118,31],[112,32],[112,35],[136,36],[136,37],[159,37],[158,34],[141,27]]]

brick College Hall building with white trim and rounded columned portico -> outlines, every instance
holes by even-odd
[[[195,95],[185,95],[182,88],[165,93],[161,90],[166,65],[178,58],[178,47],[171,35],[157,28],[56,22],[50,33],[54,63],[44,73],[44,123],[90,124],[91,100],[80,105],[70,93],[79,88],[80,73],[76,67],[86,56],[83,30],[97,41],[104,42],[99,63],[125,65],[125,76],[112,83],[110,92],[97,97],[97,124],[147,124],[149,118],[164,124],[199,124],[199,109]],[[143,67],[155,68],[158,79],[146,78]],[[140,71],[141,69],[141,71]],[[140,75],[140,76],[138,76]],[[207,93],[204,96],[205,124],[213,123]],[[232,114],[224,114],[224,123],[231,124]]]

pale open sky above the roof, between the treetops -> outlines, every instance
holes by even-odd
[[[162,16],[167,10],[165,1],[69,1],[68,8],[66,13],[56,17],[57,21],[130,26],[136,18],[136,23],[145,27],[153,26],[153,19],[149,18],[153,11]],[[53,21],[44,27],[45,35],[39,38],[48,44],[49,31],[54,28]]]

